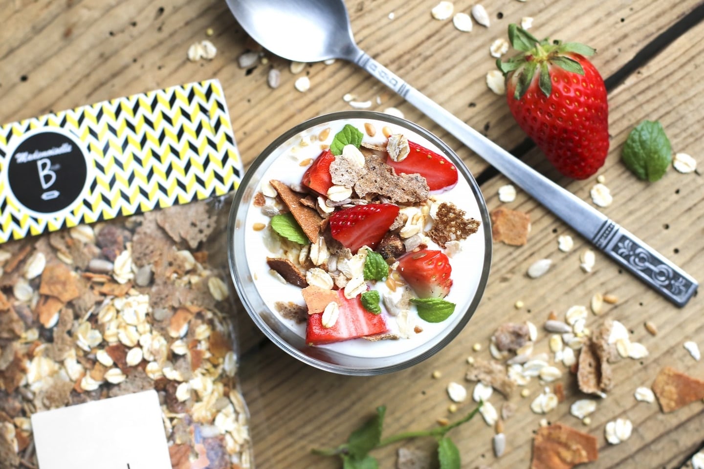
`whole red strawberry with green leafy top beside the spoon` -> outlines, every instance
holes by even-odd
[[[520,54],[496,65],[506,79],[514,119],[565,176],[586,179],[604,164],[609,149],[604,80],[576,42],[540,41],[509,25]]]

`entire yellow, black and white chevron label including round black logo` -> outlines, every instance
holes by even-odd
[[[0,127],[0,243],[224,195],[242,162],[218,80]]]

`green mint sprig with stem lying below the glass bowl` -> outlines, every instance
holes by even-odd
[[[434,437],[438,442],[440,469],[460,469],[460,451],[450,437],[446,436],[446,433],[472,420],[472,417],[479,412],[482,404],[483,402],[479,401],[476,409],[450,425],[432,428],[431,430],[402,432],[383,439],[382,428],[384,426],[386,406],[379,406],[377,407],[377,415],[353,431],[346,443],[337,446],[337,448],[313,449],[311,452],[320,456],[339,456],[342,460],[343,469],[378,469],[379,463],[374,456],[369,454],[370,451],[404,439]]]

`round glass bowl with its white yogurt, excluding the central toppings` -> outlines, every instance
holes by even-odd
[[[321,145],[332,141],[344,124],[351,123],[365,131],[371,123],[376,134],[372,139],[365,133],[365,141],[382,143],[383,133],[404,134],[436,153],[444,155],[458,169],[458,184],[440,197],[455,200],[467,216],[481,221],[479,230],[463,241],[463,258],[453,261],[454,313],[441,323],[421,323],[422,332],[411,338],[398,340],[352,339],[330,345],[310,346],[305,340],[305,324],[296,325],[284,319],[274,306],[277,301],[291,300],[291,288],[270,274],[266,251],[270,243],[269,228],[261,229],[268,220],[261,207],[254,205],[255,195],[270,193],[270,179],[282,179],[287,184],[299,183],[310,161],[321,153]],[[387,128],[384,128],[387,127]],[[329,136],[325,129],[330,128]],[[276,164],[275,164],[276,163]],[[260,198],[260,197],[259,197]],[[454,198],[454,199],[453,199]],[[268,241],[265,241],[268,239]],[[436,136],[422,127],[401,118],[371,111],[345,111],[321,115],[296,125],[273,141],[254,160],[244,175],[234,196],[228,225],[228,260],[237,294],[251,319],[278,347],[310,366],[344,375],[377,375],[398,371],[420,363],[448,345],[474,314],[482,298],[491,264],[491,226],[486,203],[474,177],[457,155]],[[248,262],[251,257],[251,263]],[[295,298],[294,298],[295,300]],[[298,293],[298,304],[305,304]],[[386,313],[384,313],[386,314]],[[411,311],[410,314],[417,314]],[[394,321],[391,316],[388,321]]]

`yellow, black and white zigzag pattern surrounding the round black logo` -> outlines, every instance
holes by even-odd
[[[0,172],[8,146],[39,127],[73,132],[89,152],[89,190],[59,217],[31,217],[0,182],[0,243],[81,223],[224,195],[242,163],[218,80],[150,91],[0,127]]]

